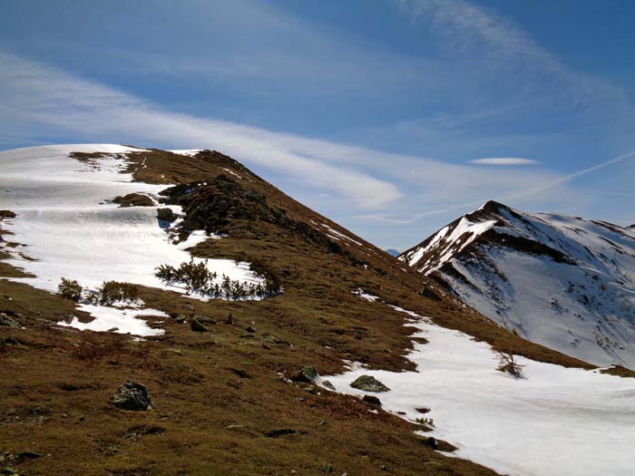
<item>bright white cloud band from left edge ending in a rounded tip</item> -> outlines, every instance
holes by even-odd
[[[215,148],[249,164],[329,189],[359,209],[377,209],[399,199],[386,180],[319,157],[319,143],[243,126],[201,119],[161,108],[101,84],[83,81],[41,63],[0,55],[0,118],[15,134],[58,131],[77,139],[142,141],[143,145]],[[24,127],[24,124],[28,127]],[[307,146],[310,146],[308,148]]]

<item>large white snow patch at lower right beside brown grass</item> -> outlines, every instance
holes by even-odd
[[[322,379],[338,392],[362,396],[349,384],[373,375],[391,389],[380,395],[386,411],[405,412],[400,416],[415,422],[421,418],[415,408],[431,408],[425,417],[435,428],[425,435],[457,446],[454,456],[503,474],[632,474],[635,380],[523,357],[516,360],[525,365],[525,378],[515,379],[497,371],[498,355],[470,335],[423,318],[409,325],[428,342],[415,343],[408,356],[415,372],[353,366]]]

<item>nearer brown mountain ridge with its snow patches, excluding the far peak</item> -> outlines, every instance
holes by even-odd
[[[484,456],[507,433],[463,388],[471,379],[494,399],[522,392],[522,379],[497,370],[503,355],[523,359],[533,388],[524,396],[549,402],[547,419],[563,404],[554,375],[572,393],[601,387],[591,395],[599,410],[584,412],[595,433],[576,444],[595,447],[605,427],[629,431],[630,409],[615,396],[629,379],[610,375],[624,369],[597,369],[494,324],[218,151],[55,146],[0,152],[0,163],[0,436],[21,473],[508,473],[523,464],[515,451],[531,447]],[[210,296],[156,279],[156,267],[187,259],[248,283],[275,276],[279,287],[244,296],[238,282]],[[59,277],[77,279],[79,302],[55,292]],[[134,300],[95,301],[102,280],[118,279]],[[351,370],[432,378],[362,399],[344,394]],[[127,380],[147,388],[150,411],[109,403]],[[464,396],[448,398],[459,387]],[[439,398],[428,403],[432,391]],[[511,428],[528,424],[514,405],[506,411]],[[602,420],[608,411],[617,422]],[[556,451],[569,430],[559,425],[541,435]],[[594,459],[599,467],[627,453],[614,436],[602,441],[613,452]],[[51,457],[22,461],[23,452]],[[572,456],[567,467],[580,467]]]

